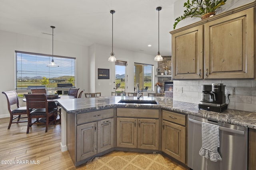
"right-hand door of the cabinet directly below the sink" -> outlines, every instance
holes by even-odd
[[[138,148],[159,149],[159,120],[138,119]]]

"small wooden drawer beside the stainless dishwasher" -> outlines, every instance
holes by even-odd
[[[180,125],[186,125],[186,115],[179,113],[163,110],[163,119]]]

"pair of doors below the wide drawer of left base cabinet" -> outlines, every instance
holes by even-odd
[[[77,126],[76,161],[114,147],[114,119],[104,119]]]

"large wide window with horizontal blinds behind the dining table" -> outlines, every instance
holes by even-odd
[[[48,67],[46,65],[52,61],[52,55],[21,51],[15,51],[15,54],[16,90],[76,86],[75,58],[54,56],[54,62],[59,67]]]

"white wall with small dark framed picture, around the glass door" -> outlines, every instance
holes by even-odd
[[[134,91],[134,62],[157,66],[157,61],[154,61],[154,55],[117,48],[114,48],[113,51],[117,60],[124,60],[128,63],[128,92]],[[95,76],[90,77],[90,82],[95,82],[95,89],[91,89],[90,92],[101,92],[102,96],[111,96],[111,92],[115,91],[115,63],[108,61],[111,52],[112,48],[105,45],[94,44],[90,47],[90,54],[95,54]],[[98,79],[98,68],[110,69],[110,79]],[[156,74],[155,69],[154,74]]]

